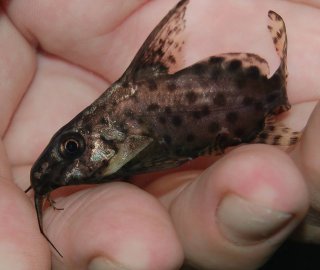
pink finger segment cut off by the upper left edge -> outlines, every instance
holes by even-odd
[[[35,54],[0,7],[0,137],[35,72]]]

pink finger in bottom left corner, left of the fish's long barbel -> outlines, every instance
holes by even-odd
[[[0,142],[1,269],[50,269],[50,253],[38,233],[34,208],[13,184]]]

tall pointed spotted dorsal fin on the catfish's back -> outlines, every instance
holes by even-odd
[[[189,0],[181,0],[150,33],[122,79],[139,80],[148,76],[172,73],[178,66],[185,11]]]

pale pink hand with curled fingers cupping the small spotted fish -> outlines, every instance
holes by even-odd
[[[56,206],[64,210],[48,209],[44,228],[64,258],[51,253],[39,233],[31,196],[23,192],[31,165],[53,133],[122,74],[175,3],[1,4],[3,268],[43,270],[52,263],[52,269],[87,269],[91,263],[90,269],[170,270],[188,260],[197,269],[257,269],[303,220],[306,230],[296,231],[300,240],[320,242],[318,230],[305,220],[310,205],[320,209],[320,106],[315,107],[320,7],[314,1],[203,0],[191,1],[187,11],[187,65],[217,53],[248,51],[265,57],[273,72],[278,59],[267,12],[282,15],[289,36],[288,94],[295,105],[286,120],[298,129],[313,111],[301,143],[290,154],[272,146],[241,146],[214,164],[202,158],[174,173],[136,177],[142,188],[118,182],[58,191]],[[279,217],[281,224],[255,227],[257,233],[250,224],[234,229],[243,222],[236,213],[245,216],[246,209],[249,220],[257,215],[265,224]],[[268,216],[269,210],[276,214]]]

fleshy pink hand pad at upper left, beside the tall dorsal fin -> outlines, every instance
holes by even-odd
[[[126,50],[118,53],[127,42],[119,46],[113,41],[113,32],[118,34],[119,26],[144,4],[144,0],[62,1],[59,4],[54,0],[41,1],[41,4],[32,0],[28,3],[11,1],[7,10],[10,19],[30,42],[39,43],[44,51],[105,76],[110,71],[107,59],[110,48],[120,61],[129,61]],[[34,16],[35,10],[37,16]],[[122,39],[128,37],[121,36]],[[127,49],[132,50],[130,46]],[[113,71],[115,67],[111,66]]]

